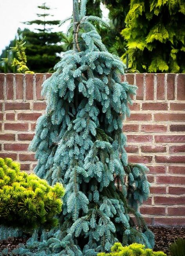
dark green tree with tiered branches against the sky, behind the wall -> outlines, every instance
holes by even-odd
[[[26,25],[41,25],[36,31],[24,31],[26,43],[27,65],[30,70],[39,73],[50,72],[60,60],[63,51],[61,41],[63,33],[52,32],[54,25],[59,25],[59,20],[49,20],[50,7],[45,3],[38,6],[42,13],[38,13],[38,19],[24,22]]]

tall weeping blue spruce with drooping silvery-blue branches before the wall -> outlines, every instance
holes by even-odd
[[[125,67],[91,22],[107,24],[85,16],[86,0],[73,1],[74,50],[65,52],[43,83],[46,113],[30,145],[38,159],[35,173],[50,185],[64,185],[63,211],[59,227],[35,231],[15,250],[20,255],[95,256],[118,241],[154,246],[138,211],[149,194],[147,168],[128,164],[122,133],[137,87],[120,81]]]

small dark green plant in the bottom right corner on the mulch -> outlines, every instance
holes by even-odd
[[[185,239],[178,238],[169,246],[171,256],[185,256]]]

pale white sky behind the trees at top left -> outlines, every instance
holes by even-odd
[[[34,30],[35,25],[25,25],[22,22],[37,18],[38,5],[46,4],[53,8],[54,20],[64,20],[72,14],[72,0],[0,0],[0,54],[5,46],[14,39],[18,27]],[[103,11],[107,16],[107,11]],[[65,32],[69,23],[62,27],[55,26],[53,31]]]

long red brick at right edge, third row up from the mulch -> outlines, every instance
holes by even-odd
[[[154,203],[162,205],[185,204],[185,197],[158,197],[154,196]]]

